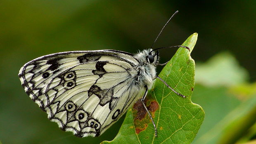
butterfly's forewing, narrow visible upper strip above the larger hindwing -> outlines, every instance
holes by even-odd
[[[50,83],[54,87],[55,81],[51,81],[59,73],[78,64],[90,61],[119,60],[126,61],[131,66],[137,64],[131,55],[126,52],[111,50],[97,51],[73,51],[49,54],[29,61],[21,67],[19,78],[26,93],[36,101],[36,98],[45,92]]]

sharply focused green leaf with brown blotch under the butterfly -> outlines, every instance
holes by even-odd
[[[196,41],[197,33],[194,33],[183,45],[190,47],[191,52]],[[158,79],[147,95],[146,105],[156,123],[158,136],[154,137],[153,124],[138,101],[128,110],[115,139],[103,144],[190,144],[193,141],[204,120],[204,111],[191,102],[195,64],[190,52],[179,48],[159,74],[175,91],[187,97],[178,96]]]

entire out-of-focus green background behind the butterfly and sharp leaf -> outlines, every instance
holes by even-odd
[[[179,13],[155,47],[180,45],[192,33],[199,33],[192,52],[196,62],[192,102],[206,114],[193,143],[224,144],[223,137],[230,137],[230,143],[256,139],[255,0],[1,0],[0,141],[87,144],[113,139],[123,119],[97,138],[77,138],[60,130],[26,95],[17,76],[19,69],[55,52],[114,49],[135,53],[149,48],[176,10]],[[162,50],[161,63],[175,51]]]

